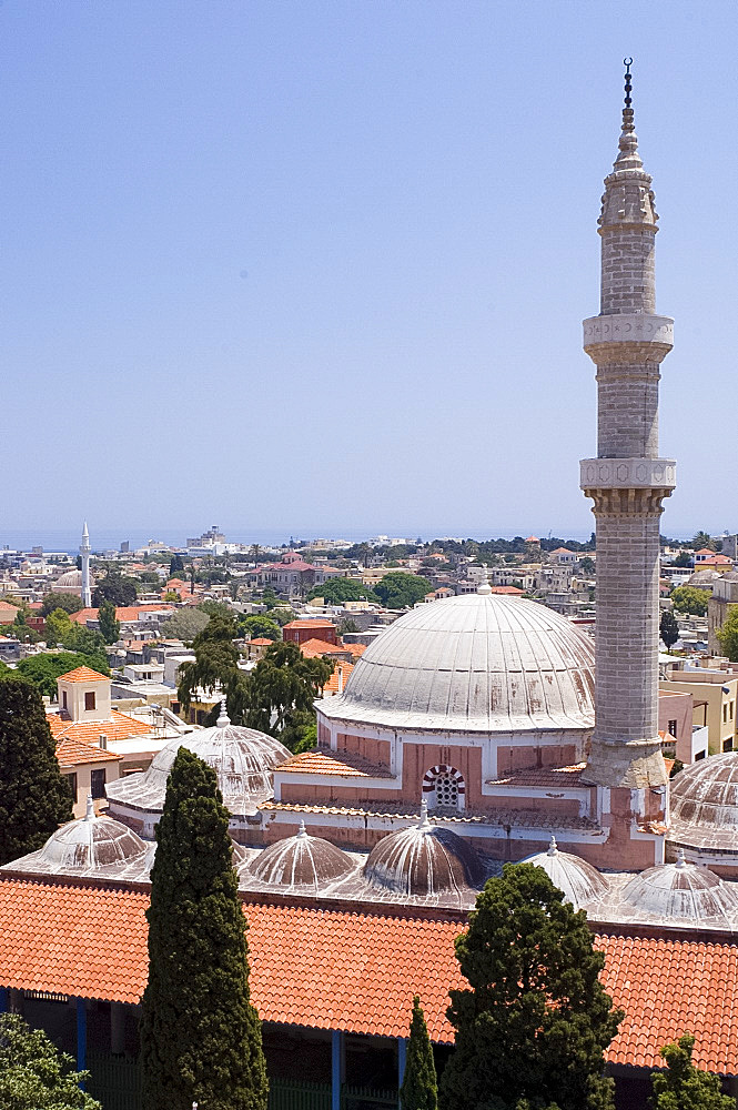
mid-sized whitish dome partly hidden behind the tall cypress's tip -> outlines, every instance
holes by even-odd
[[[166,779],[181,747],[213,768],[223,804],[234,816],[255,814],[256,807],[272,797],[272,771],[292,755],[273,736],[232,725],[223,712],[212,728],[185,733],[165,744],[148,770],[111,783],[105,788],[111,808],[133,806],[161,813]]]

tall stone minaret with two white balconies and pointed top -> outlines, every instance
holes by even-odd
[[[626,72],[623,133],[605,179],[599,316],[584,321],[597,366],[597,458],[580,485],[597,522],[595,729],[585,779],[645,789],[667,783],[658,735],[659,518],[676,464],[658,457],[659,367],[674,321],[657,316],[651,179],[638,154]]]

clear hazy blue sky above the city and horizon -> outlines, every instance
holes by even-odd
[[[737,29],[715,0],[4,0],[0,539],[588,531],[624,54],[676,319],[664,528],[738,529]]]

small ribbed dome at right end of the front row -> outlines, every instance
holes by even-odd
[[[738,911],[738,894],[706,867],[685,861],[677,852],[676,864],[661,864],[634,877],[625,885],[623,901],[638,914],[665,921],[731,919]]]

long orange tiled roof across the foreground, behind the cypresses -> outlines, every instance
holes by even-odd
[[[146,981],[148,895],[0,879],[0,985],[138,1002]],[[251,989],[264,1021],[406,1037],[414,993],[428,1032],[451,1041],[448,989],[464,986],[459,921],[319,906],[244,904]],[[738,945],[603,934],[603,982],[626,1011],[606,1057],[663,1066],[683,1032],[695,1063],[738,1073]]]

